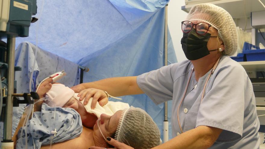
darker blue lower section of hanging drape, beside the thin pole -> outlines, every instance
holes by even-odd
[[[78,61],[80,65],[90,69],[89,73],[84,73],[84,82],[109,77],[137,76],[162,67],[164,65],[164,21],[161,20],[164,20],[164,8],[158,10],[124,39]],[[176,62],[176,56],[169,34],[168,63],[174,62]],[[125,96],[123,102],[147,111],[157,123],[163,137],[164,104],[156,106],[146,95]],[[168,105],[170,120],[171,101]],[[169,135],[171,138],[171,133]]]

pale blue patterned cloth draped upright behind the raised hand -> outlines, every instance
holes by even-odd
[[[44,51],[39,48],[36,64],[33,69],[33,63],[35,59],[36,46],[29,43],[23,42],[18,45],[15,51],[15,66],[22,67],[22,71],[15,73],[15,80],[17,81],[17,93],[29,92],[30,75],[33,72],[33,85],[36,89],[43,79],[49,75],[58,71],[65,70],[67,76],[58,82],[63,83],[67,86],[73,86],[79,83],[79,69],[76,63],[68,61],[62,57],[59,57],[50,52]],[[34,88],[32,88],[34,90]],[[22,115],[26,104],[20,104],[19,107],[13,108],[13,122],[12,122],[12,134],[14,134],[16,127],[19,123],[20,116]]]

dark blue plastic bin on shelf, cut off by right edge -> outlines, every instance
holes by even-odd
[[[245,50],[247,61],[265,61],[265,49]]]

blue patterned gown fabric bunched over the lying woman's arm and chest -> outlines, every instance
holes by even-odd
[[[56,143],[76,138],[80,136],[83,129],[81,117],[76,110],[72,108],[49,107],[45,103],[42,104],[40,112],[33,113],[33,118],[26,126],[28,149],[34,148],[33,140],[35,148],[39,149],[41,145],[50,144],[50,139],[52,139],[52,143]],[[25,148],[25,127],[23,131],[20,128],[17,134],[17,149]],[[51,131],[55,129],[57,134],[54,138],[51,138],[53,136]]]

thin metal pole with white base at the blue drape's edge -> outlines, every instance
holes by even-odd
[[[165,30],[164,30],[164,66],[167,66],[167,6],[165,6]],[[168,120],[167,120],[167,101],[164,103],[164,129],[163,129],[163,143],[168,141]]]

